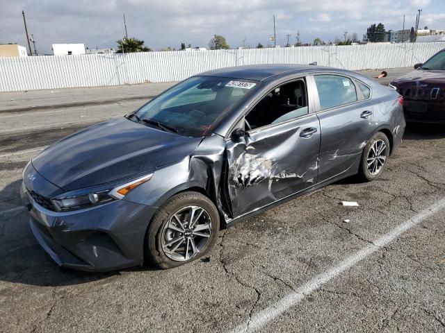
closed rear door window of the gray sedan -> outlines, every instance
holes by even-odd
[[[352,80],[338,75],[314,76],[321,110],[357,101]]]

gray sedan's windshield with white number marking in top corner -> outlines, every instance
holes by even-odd
[[[253,80],[193,76],[145,104],[134,118],[161,130],[202,137],[258,86]]]

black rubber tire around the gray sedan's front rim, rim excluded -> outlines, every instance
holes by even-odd
[[[197,205],[206,210],[211,218],[211,235],[206,246],[195,257],[188,259],[184,262],[177,262],[170,259],[165,255],[161,246],[161,237],[163,237],[162,231],[165,223],[181,208],[187,205]],[[145,236],[145,262],[152,266],[159,268],[173,268],[181,266],[188,262],[192,262],[209,252],[213,245],[216,243],[216,237],[218,237],[218,230],[220,225],[220,219],[218,210],[207,196],[194,191],[187,191],[168,199],[159,210],[153,216],[147,228],[147,234]]]

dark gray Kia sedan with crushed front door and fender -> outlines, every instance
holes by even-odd
[[[341,69],[217,69],[45,149],[21,196],[60,266],[172,268],[208,253],[220,227],[341,178],[378,178],[402,140],[402,104]]]

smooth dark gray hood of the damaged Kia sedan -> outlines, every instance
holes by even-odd
[[[183,137],[125,118],[65,137],[33,159],[35,170],[65,191],[153,171],[190,155],[201,138]]]

